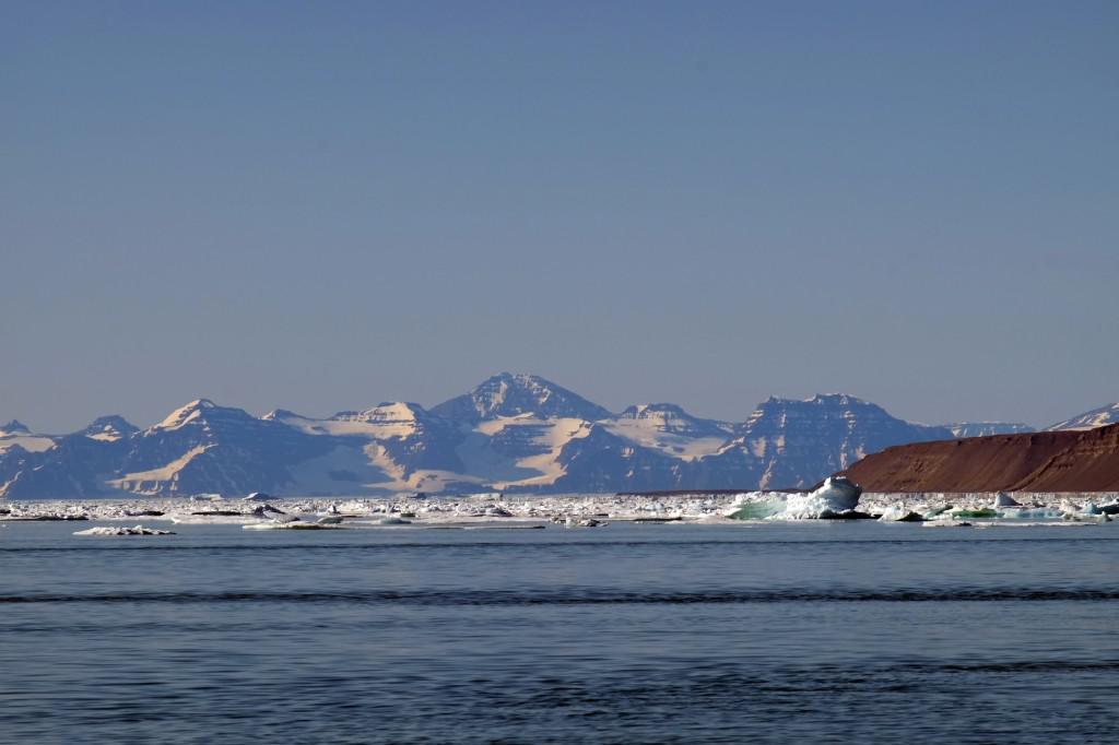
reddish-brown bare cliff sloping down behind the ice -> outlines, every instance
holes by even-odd
[[[897,445],[841,473],[878,492],[1117,491],[1119,424]]]

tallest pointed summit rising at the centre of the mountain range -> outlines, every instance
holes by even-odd
[[[513,372],[487,378],[470,393],[433,406],[431,412],[471,424],[523,414],[542,419],[573,417],[598,421],[611,416],[598,404],[538,375]]]

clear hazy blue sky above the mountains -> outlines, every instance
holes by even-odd
[[[0,421],[1119,400],[1119,3],[0,4]]]

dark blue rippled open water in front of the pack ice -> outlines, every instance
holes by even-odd
[[[0,528],[10,743],[1119,743],[1119,529]]]

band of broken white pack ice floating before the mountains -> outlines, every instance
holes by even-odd
[[[837,480],[841,481],[841,480]],[[856,488],[857,489],[857,488]],[[830,491],[829,491],[830,490]],[[138,498],[44,500],[0,507],[0,522],[90,520],[312,527],[599,527],[611,521],[733,525],[743,521],[880,519],[930,525],[1106,522],[1119,492],[840,493],[830,482],[811,492],[679,494],[500,494],[385,498]],[[299,524],[299,525],[293,525]],[[9,526],[15,527],[15,526]]]

